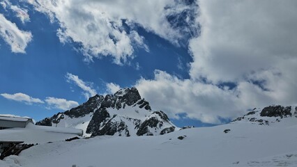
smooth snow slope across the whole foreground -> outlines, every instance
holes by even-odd
[[[97,136],[43,143],[6,157],[1,167],[28,166],[297,166],[296,118],[273,125],[234,122],[162,136]],[[230,129],[224,133],[224,129]],[[178,136],[186,136],[179,140]]]

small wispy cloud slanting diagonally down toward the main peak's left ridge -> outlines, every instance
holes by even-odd
[[[79,79],[77,75],[67,73],[66,79],[68,82],[72,81],[79,88],[82,88],[82,90],[84,90],[84,96],[86,99],[89,99],[89,97],[97,94],[96,90],[92,88],[93,83],[86,83],[85,81],[82,81],[82,79]]]

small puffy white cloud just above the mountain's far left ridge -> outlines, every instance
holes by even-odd
[[[45,99],[45,102],[49,105],[50,109],[61,109],[61,110],[69,110],[72,109],[75,106],[78,106],[79,104],[72,100],[66,100],[66,99],[59,99],[56,97],[47,97]]]

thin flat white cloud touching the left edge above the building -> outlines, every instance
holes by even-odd
[[[45,102],[43,102],[42,100],[38,99],[38,98],[33,98],[29,95],[26,95],[24,93],[15,93],[15,94],[8,94],[8,93],[2,93],[0,94],[1,96],[3,96],[4,98],[8,99],[8,100],[14,100],[17,102],[24,102],[26,104],[33,104],[33,103],[40,103],[43,104]]]

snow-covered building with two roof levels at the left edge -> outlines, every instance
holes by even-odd
[[[36,144],[72,141],[82,134],[82,129],[38,126],[31,118],[0,115],[0,161]]]

